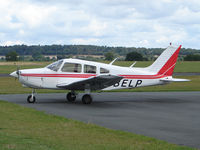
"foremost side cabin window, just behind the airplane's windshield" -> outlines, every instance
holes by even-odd
[[[65,63],[61,69],[62,72],[81,72],[81,64]]]

